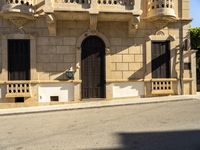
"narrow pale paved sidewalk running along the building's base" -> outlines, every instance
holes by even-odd
[[[80,101],[79,103],[69,103],[69,104],[60,104],[60,105],[9,108],[9,109],[0,109],[0,116],[25,114],[25,113],[39,113],[39,112],[48,112],[48,111],[84,109],[84,108],[99,108],[99,107],[111,107],[111,106],[134,105],[134,104],[173,102],[173,101],[182,101],[182,100],[200,100],[200,95],[164,96],[164,97],[131,98],[131,99],[125,98],[125,99],[99,100],[99,101]]]

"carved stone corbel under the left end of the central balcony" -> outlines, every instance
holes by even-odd
[[[53,14],[46,15],[48,30],[50,36],[56,36],[56,18]]]

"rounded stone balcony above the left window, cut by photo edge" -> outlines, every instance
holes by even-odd
[[[0,15],[17,27],[34,19],[34,0],[4,0]]]

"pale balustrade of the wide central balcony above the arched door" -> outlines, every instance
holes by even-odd
[[[46,11],[88,11],[136,13],[140,12],[141,0],[45,0]],[[137,7],[136,7],[137,6]],[[52,9],[49,9],[51,7]],[[95,12],[94,12],[95,11]]]

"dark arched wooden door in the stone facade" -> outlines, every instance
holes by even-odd
[[[105,98],[105,44],[89,36],[81,48],[82,98]]]

